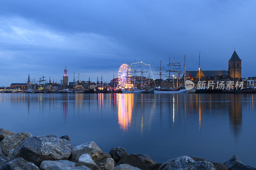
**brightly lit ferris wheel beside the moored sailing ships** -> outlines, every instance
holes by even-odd
[[[118,86],[123,88],[132,88],[131,68],[128,64],[122,64],[118,71]]]

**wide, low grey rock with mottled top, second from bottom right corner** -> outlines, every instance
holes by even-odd
[[[162,169],[195,169],[195,170],[201,170],[201,169],[209,169],[209,170],[215,170],[215,166],[209,162],[209,161],[195,161],[194,159],[188,157],[188,156],[181,156],[176,159],[170,159],[166,162],[164,162],[160,167],[159,170]]]

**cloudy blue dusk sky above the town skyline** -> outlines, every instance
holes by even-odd
[[[242,77],[256,76],[256,1],[1,1],[0,86],[45,76],[60,82],[117,77],[122,64],[160,59],[187,70],[228,70],[234,52]],[[182,66],[183,67],[183,66]]]

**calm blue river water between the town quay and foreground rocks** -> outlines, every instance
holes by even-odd
[[[122,146],[157,162],[188,155],[256,166],[255,94],[1,94],[0,128]]]

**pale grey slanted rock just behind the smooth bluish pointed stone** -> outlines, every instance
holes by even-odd
[[[72,152],[73,160],[75,159],[78,160],[81,155],[83,155],[84,153],[90,152],[91,151],[90,148],[96,149],[99,152],[102,152],[99,146],[95,142],[93,141],[87,142],[72,148],[71,152]]]

